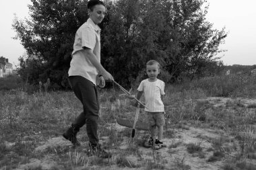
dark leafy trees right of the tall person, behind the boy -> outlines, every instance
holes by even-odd
[[[205,1],[117,1],[104,29],[104,63],[123,84],[156,59],[176,79],[220,73],[214,56],[226,37],[205,21]],[[132,9],[132,10],[131,10]],[[115,12],[116,11],[116,12]],[[169,81],[169,80],[168,80]]]

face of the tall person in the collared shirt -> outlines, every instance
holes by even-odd
[[[95,5],[92,7],[92,11],[89,10],[89,15],[94,24],[100,24],[105,16],[106,9],[104,5]]]

